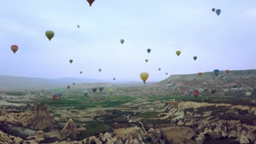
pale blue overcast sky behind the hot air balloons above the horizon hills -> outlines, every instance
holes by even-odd
[[[0,75],[160,81],[255,69],[255,34],[256,0],[2,0]]]

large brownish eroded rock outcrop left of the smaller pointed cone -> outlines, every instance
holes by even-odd
[[[53,128],[54,115],[50,115],[45,104],[37,104],[34,109],[34,116],[31,120],[30,128],[45,129]]]

